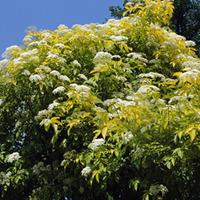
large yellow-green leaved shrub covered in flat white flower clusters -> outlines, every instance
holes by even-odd
[[[172,2],[29,32],[0,61],[0,195],[200,198],[200,59]]]

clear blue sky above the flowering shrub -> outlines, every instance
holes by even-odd
[[[104,22],[110,5],[122,0],[1,0],[0,54],[6,47],[20,45],[30,26],[55,29],[59,24],[72,26]]]

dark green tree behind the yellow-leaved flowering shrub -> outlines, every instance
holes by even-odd
[[[144,0],[124,0],[123,8],[110,6],[111,15],[121,18],[128,2],[144,2]],[[177,34],[193,40],[200,47],[200,1],[199,0],[174,0],[174,13],[172,17],[172,28]]]

